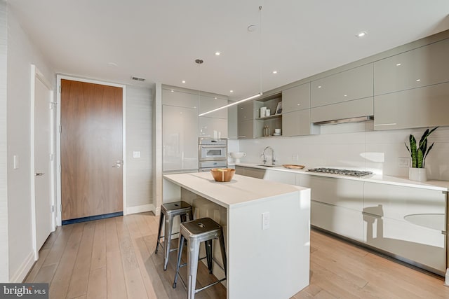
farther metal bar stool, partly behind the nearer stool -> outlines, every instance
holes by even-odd
[[[173,218],[175,216],[180,216],[181,222],[187,221],[187,216],[189,216],[189,221],[193,220],[192,206],[187,202],[169,202],[167,204],[161,205],[161,218],[159,219],[159,231],[157,233],[157,242],[156,242],[156,250],[154,253],[157,253],[159,245],[161,245],[164,249],[163,253],[163,270],[167,270],[168,264],[168,256],[171,251],[177,250],[170,249],[171,244],[171,231],[173,228]],[[165,220],[165,232],[163,236],[161,236],[162,225]],[[164,239],[164,244],[161,243],[161,238]]]

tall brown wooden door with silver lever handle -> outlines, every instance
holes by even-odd
[[[61,80],[62,221],[123,211],[122,95]]]

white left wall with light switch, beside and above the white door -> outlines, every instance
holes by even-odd
[[[8,11],[7,67],[7,243],[9,279],[13,280],[21,280],[26,274],[27,264],[25,263],[29,262],[29,256],[33,253],[30,190],[31,64],[35,64],[43,76],[55,85],[55,74],[50,64],[39,53],[10,10]],[[19,156],[18,169],[13,169],[13,155]],[[4,242],[3,238],[2,242]]]

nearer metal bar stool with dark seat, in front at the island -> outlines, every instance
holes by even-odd
[[[182,246],[187,239],[187,264],[181,263]],[[222,253],[223,267],[220,263],[213,258],[212,240],[219,239],[220,251]],[[208,262],[209,273],[212,273],[212,261],[215,261],[217,265],[225,271],[225,278],[203,286],[203,288],[196,289],[196,272],[198,270],[198,262],[203,258],[199,258],[199,245],[204,242],[206,247],[206,258]],[[209,286],[219,284],[226,279],[226,251],[225,251],[225,238],[223,237],[223,228],[220,224],[213,221],[211,218],[201,218],[194,221],[188,221],[181,223],[180,225],[180,239],[179,248],[177,249],[177,263],[175,272],[175,281],[173,281],[173,288],[176,287],[177,277],[179,275],[180,267],[187,265],[188,267],[188,298],[194,299],[195,294]],[[181,277],[182,283],[186,286],[185,281]]]

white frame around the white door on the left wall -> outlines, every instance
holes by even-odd
[[[50,114],[50,145],[51,145],[51,165],[50,165],[50,195],[51,195],[51,205],[53,206],[53,212],[51,216],[51,231],[55,231],[56,228],[56,219],[55,219],[55,109],[54,104],[54,90],[53,86],[51,85],[50,81],[48,81],[45,76],[37,69],[36,65],[31,64],[31,87],[30,87],[30,181],[31,181],[31,217],[32,217],[32,242],[33,242],[33,250],[34,250],[34,259],[37,260],[39,258],[39,249],[37,248],[37,227],[36,227],[36,182],[35,179],[35,173],[36,169],[34,168],[34,141],[35,141],[35,134],[34,134],[34,109],[35,109],[35,102],[36,102],[36,95],[35,95],[35,88],[36,88],[36,80],[41,81],[43,85],[48,88],[50,91],[50,101],[48,102],[49,105],[52,105],[52,109],[48,107],[48,109],[51,109]]]

